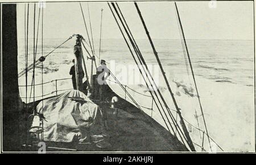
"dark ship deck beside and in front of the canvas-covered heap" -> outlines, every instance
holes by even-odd
[[[110,88],[109,96],[117,96]],[[110,144],[98,147],[96,143],[81,144],[79,142],[47,142],[47,151],[188,151],[187,147],[162,125],[118,96],[118,115],[110,108],[107,101],[93,100],[104,109],[106,134],[104,137]],[[39,101],[37,101],[39,103]],[[24,150],[36,151],[38,147]]]

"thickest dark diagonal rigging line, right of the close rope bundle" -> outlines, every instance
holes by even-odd
[[[165,75],[165,72],[164,72],[164,70],[163,70],[163,66],[162,66],[162,64],[161,64],[161,62],[160,62],[160,60],[159,60],[159,57],[158,57],[158,53],[156,52],[155,46],[154,46],[154,44],[153,44],[153,42],[152,42],[152,40],[151,40],[151,37],[150,37],[150,35],[149,35],[149,32],[148,32],[147,27],[146,27],[146,24],[144,23],[143,17],[142,17],[142,15],[141,15],[141,11],[139,10],[139,7],[138,7],[138,5],[137,5],[136,2],[134,2],[134,5],[135,5],[135,7],[136,7],[136,9],[137,9],[137,11],[138,11],[139,17],[141,18],[141,21],[142,21],[143,27],[144,27],[144,29],[145,29],[145,31],[146,31],[148,40],[150,41],[152,50],[153,50],[153,52],[154,52],[154,54],[155,54],[156,60],[158,61],[160,70],[162,71],[162,74],[163,74],[163,77],[164,77],[164,81],[165,81],[166,84],[167,84],[167,87],[168,87],[168,90],[169,90],[170,95],[171,95],[171,97],[172,97],[172,100],[173,100],[173,102],[174,102],[175,108],[177,109],[177,113],[179,114],[179,117],[180,117],[180,124],[181,124],[181,126],[182,126],[182,128],[183,128],[183,131],[184,131],[184,133],[185,133],[185,136],[186,136],[186,138],[187,138],[188,145],[189,145],[189,147],[190,147],[190,149],[191,149],[192,151],[195,151],[195,147],[193,146],[192,139],[191,139],[191,137],[189,136],[188,130],[187,130],[187,128],[186,128],[186,126],[185,126],[185,123],[184,123],[184,121],[183,121],[183,117],[181,116],[180,109],[179,109],[179,107],[178,107],[178,105],[177,105],[177,103],[176,103],[174,94],[172,93],[170,84],[168,83],[168,79],[167,79],[167,77],[166,77],[166,75]]]

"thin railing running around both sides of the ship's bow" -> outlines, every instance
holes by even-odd
[[[61,78],[61,79],[53,79],[52,81],[48,81],[48,82],[43,82],[43,83],[38,83],[38,84],[35,84],[35,86],[42,86],[44,84],[49,84],[49,83],[54,83],[55,84],[55,90],[47,93],[47,94],[44,94],[44,95],[40,95],[40,96],[35,96],[35,98],[42,98],[42,99],[45,99],[44,97],[45,96],[55,96],[55,95],[59,95],[61,94],[61,92],[64,92],[64,91],[68,91],[68,90],[72,90],[73,88],[68,88],[68,89],[62,89],[62,90],[58,90],[58,82],[59,81],[68,81],[68,80],[71,80],[72,78]],[[113,83],[118,83],[118,82],[115,82],[115,81],[112,81],[110,79],[107,79],[107,81],[109,82],[113,82]],[[145,108],[145,109],[148,109],[151,111],[151,117],[153,118],[152,116],[152,112],[154,111],[153,107],[154,107],[154,101],[153,101],[153,98],[152,96],[150,95],[146,95],[146,94],[143,94],[141,92],[138,92],[138,91],[135,91],[133,88],[127,86],[126,84],[121,84],[123,87],[124,87],[124,94],[119,94],[117,93],[119,96],[122,96],[125,100],[127,101],[131,101],[133,102],[132,99],[129,99],[129,97],[127,97],[127,90],[129,89],[130,91],[136,93],[136,94],[139,94],[141,96],[144,96],[146,98],[151,98],[151,107],[144,107],[143,105],[139,105],[138,103],[135,103],[137,106],[139,106],[138,108],[141,109],[141,108]],[[27,85],[29,87],[32,87],[34,85]],[[26,85],[19,85],[19,87],[26,87]],[[26,99],[26,97],[20,97],[22,99]],[[27,97],[28,98],[28,97]],[[171,111],[174,111],[175,113],[177,113],[177,111],[175,109],[170,109]],[[183,118],[184,119],[184,118]],[[207,151],[205,150],[205,144],[204,144],[204,141],[205,141],[205,137],[209,137],[210,140],[214,143],[214,145],[216,145],[216,147],[218,149],[220,149],[221,151],[224,151],[219,145],[217,142],[214,141],[214,139],[212,137],[210,137],[207,133],[205,133],[204,130],[200,129],[199,127],[191,124],[191,122],[189,122],[188,120],[184,119],[184,121],[187,123],[187,125],[191,126],[191,128],[193,128],[193,131],[197,131],[200,133],[200,137],[201,137],[201,144],[199,145],[198,143],[195,143],[193,142],[193,144],[197,147],[200,147],[201,148],[201,151]],[[174,124],[173,124],[174,125]]]

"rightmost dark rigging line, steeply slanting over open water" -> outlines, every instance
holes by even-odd
[[[183,27],[182,27],[181,20],[180,20],[180,16],[179,16],[179,11],[178,11],[178,9],[177,9],[176,2],[175,2],[174,4],[175,4],[177,16],[178,16],[178,18],[179,18],[179,24],[180,24],[182,36],[183,36],[183,39],[184,39],[184,45],[185,45],[185,48],[186,48],[186,50],[187,50],[188,61],[189,61],[189,65],[190,65],[190,67],[191,67],[191,73],[192,73],[193,81],[194,81],[194,83],[195,83],[196,94],[197,94],[197,98],[198,98],[198,100],[199,100],[199,105],[200,105],[200,109],[201,109],[201,114],[202,114],[203,120],[204,120],[205,131],[206,131],[206,133],[208,134],[207,124],[206,124],[205,117],[204,117],[204,111],[203,111],[203,107],[202,107],[202,105],[201,105],[200,96],[199,96],[199,91],[198,91],[198,89],[197,89],[195,74],[194,74],[194,72],[193,72],[193,67],[192,67],[191,59],[190,59],[190,57],[189,57],[188,47],[187,47],[187,43],[186,43],[186,41],[185,41],[185,36],[184,36],[184,31],[183,31]],[[208,138],[208,142],[209,142],[209,146],[210,146],[210,139],[209,139],[209,138]],[[210,146],[210,150],[212,151],[212,147],[211,147],[211,146]]]

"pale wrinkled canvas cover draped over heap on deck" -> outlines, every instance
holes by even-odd
[[[102,129],[102,112],[84,93],[71,90],[41,101],[36,107],[43,113],[44,140],[72,142],[74,136],[85,138],[97,134]],[[32,127],[39,126],[39,117],[35,116]]]

